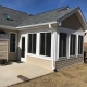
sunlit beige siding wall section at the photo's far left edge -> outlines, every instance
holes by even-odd
[[[8,61],[8,40],[0,40],[0,59]]]

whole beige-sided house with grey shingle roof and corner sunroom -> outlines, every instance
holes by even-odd
[[[79,8],[36,15],[0,5],[0,58],[60,70],[84,60],[86,21]]]

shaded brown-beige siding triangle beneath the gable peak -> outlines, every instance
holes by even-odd
[[[62,27],[71,28],[74,30],[84,30],[75,13],[62,22]]]

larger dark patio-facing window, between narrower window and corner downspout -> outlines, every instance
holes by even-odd
[[[40,33],[40,54],[51,55],[51,33]]]

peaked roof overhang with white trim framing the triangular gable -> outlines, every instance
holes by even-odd
[[[69,14],[64,15],[63,17],[61,17],[60,20],[58,20],[58,24],[60,24],[62,21],[64,21],[65,18],[67,18],[69,16],[71,16],[72,14],[76,13],[79,22],[82,23],[83,27],[84,27],[84,30],[87,29],[87,26],[86,26],[86,20],[83,15],[83,12],[80,10],[80,8],[76,8],[74,9],[72,12],[70,12]]]

